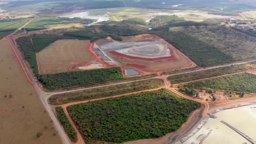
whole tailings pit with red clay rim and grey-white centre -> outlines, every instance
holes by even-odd
[[[195,64],[176,50],[172,45],[154,35],[136,35],[142,41],[118,42],[100,41],[94,45],[99,48],[101,59],[108,63],[121,64],[126,68],[143,72],[159,72],[171,69],[195,67]],[[112,58],[108,57],[111,56]],[[114,59],[114,60],[112,60]]]

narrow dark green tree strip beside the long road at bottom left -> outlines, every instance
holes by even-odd
[[[59,121],[61,122],[61,125],[63,126],[65,132],[67,133],[67,135],[69,136],[71,141],[76,142],[77,141],[77,133],[75,132],[72,125],[69,123],[69,120],[67,119],[67,116],[65,115],[63,108],[56,107],[55,110],[56,110],[57,117],[58,117]]]

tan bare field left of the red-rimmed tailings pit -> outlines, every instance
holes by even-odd
[[[67,72],[70,67],[95,63],[89,40],[57,40],[37,53],[40,74]]]

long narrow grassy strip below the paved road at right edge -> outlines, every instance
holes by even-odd
[[[246,70],[256,69],[256,64],[242,64],[242,65],[233,65],[229,67],[219,67],[216,69],[208,69],[199,72],[192,72],[188,74],[173,75],[168,77],[168,80],[171,81],[171,84],[184,83],[192,80],[199,80],[208,77],[216,77],[220,75],[227,75],[236,72],[243,72]]]

